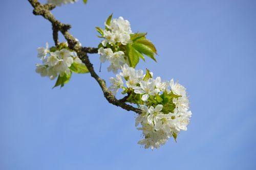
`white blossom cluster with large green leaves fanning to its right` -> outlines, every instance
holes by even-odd
[[[156,61],[157,54],[155,45],[146,39],[146,33],[132,33],[131,25],[123,17],[112,19],[112,15],[105,22],[105,29],[96,27],[100,38],[103,40],[98,45],[98,54],[102,63],[110,61],[108,71],[115,74],[123,64],[134,67],[140,58],[145,56]]]

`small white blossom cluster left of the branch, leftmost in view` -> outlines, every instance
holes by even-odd
[[[41,77],[49,77],[54,80],[58,75],[59,77],[71,76],[71,65],[73,63],[82,64],[81,60],[77,57],[76,53],[68,48],[66,42],[59,45],[58,48],[51,47],[49,49],[48,43],[46,48],[37,48],[37,57],[44,64],[36,64],[36,72]]]

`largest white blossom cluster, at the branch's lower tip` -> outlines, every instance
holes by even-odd
[[[126,87],[124,87],[123,78]],[[160,77],[153,79],[153,73],[147,70],[135,70],[127,64],[116,78],[110,78],[109,90],[116,94],[119,88],[123,94],[129,94],[126,102],[137,104],[142,110],[136,118],[136,126],[141,125],[144,139],[138,143],[144,148],[159,148],[169,137],[187,130],[191,112],[188,110],[186,89],[174,80],[161,81]]]

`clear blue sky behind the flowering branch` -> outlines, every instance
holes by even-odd
[[[158,62],[137,68],[179,80],[193,112],[178,142],[154,151],[137,144],[135,114],[109,104],[89,74],[52,89],[35,73],[37,47],[53,45],[49,21],[27,1],[0,9],[0,169],[256,169],[255,1],[80,0],[53,11],[84,46],[99,43],[94,27],[112,12],[148,33]]]

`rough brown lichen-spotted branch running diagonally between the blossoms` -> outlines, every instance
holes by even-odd
[[[40,4],[37,0],[28,0],[29,3],[32,5],[34,8],[33,14],[34,15],[41,15],[47,20],[49,20],[52,23],[53,27],[53,39],[56,44],[57,39],[56,39],[56,32],[60,31],[65,39],[68,41],[69,48],[71,50],[74,50],[77,53],[77,56],[82,60],[82,62],[87,66],[88,70],[90,71],[91,76],[98,82],[99,86],[101,87],[104,97],[106,100],[108,100],[109,103],[119,106],[127,111],[134,111],[136,113],[141,113],[141,110],[138,108],[135,108],[131,105],[128,105],[123,102],[123,100],[117,100],[115,96],[108,91],[108,88],[106,87],[105,81],[101,79],[96,72],[94,71],[93,64],[90,62],[89,57],[87,53],[97,53],[97,48],[92,48],[92,47],[81,47],[79,45],[79,42],[75,39],[74,36],[72,36],[68,30],[71,28],[70,25],[66,25],[55,19],[53,14],[50,12],[53,8],[55,8],[54,5],[51,4],[46,4],[42,5]],[[57,31],[58,30],[58,31]]]

